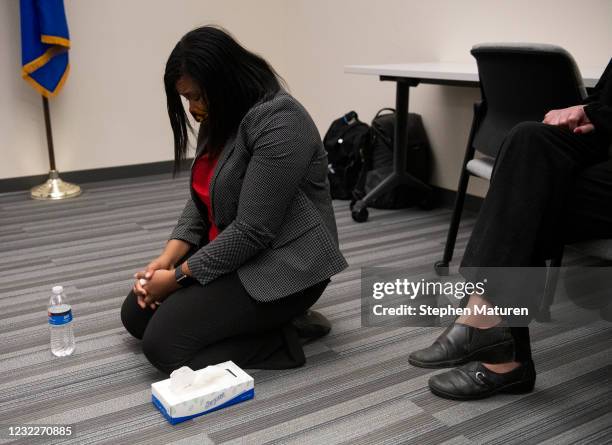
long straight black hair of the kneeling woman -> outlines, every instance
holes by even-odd
[[[200,87],[208,105],[206,151],[217,156],[238,128],[246,112],[258,101],[281,89],[282,79],[261,56],[241,46],[227,31],[203,26],[176,44],[164,73],[168,116],[174,134],[174,174],[187,157],[188,129],[176,82],[188,75]]]

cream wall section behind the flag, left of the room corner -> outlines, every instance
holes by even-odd
[[[196,26],[225,26],[284,71],[282,0],[64,3],[71,72],[50,102],[60,172],[173,158],[162,76],[176,42]],[[21,79],[19,40],[18,0],[1,0],[0,178],[48,171],[41,98]]]

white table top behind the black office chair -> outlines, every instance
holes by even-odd
[[[582,80],[587,88],[594,87],[605,67],[580,69]],[[347,65],[345,73],[369,74],[375,76],[406,77],[430,80],[450,80],[455,82],[478,82],[476,62],[450,63],[400,63],[388,65]]]

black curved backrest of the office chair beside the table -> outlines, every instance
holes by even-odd
[[[565,49],[547,44],[475,45],[484,115],[474,148],[495,157],[508,131],[524,121],[541,122],[553,109],[586,97],[582,76]]]

